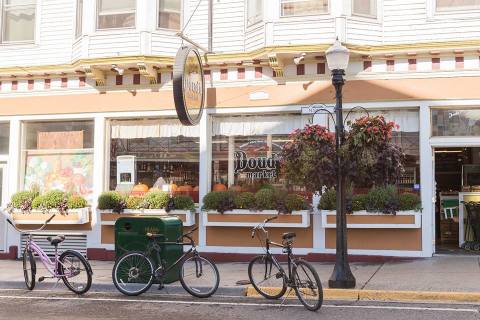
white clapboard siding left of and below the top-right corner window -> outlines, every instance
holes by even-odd
[[[383,0],[385,43],[474,39],[480,34],[480,14],[433,14],[434,0]]]

